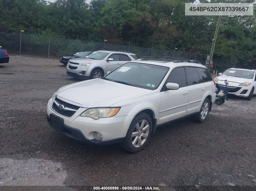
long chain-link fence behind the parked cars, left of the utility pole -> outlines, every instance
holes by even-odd
[[[29,33],[0,32],[0,45],[9,53],[16,55],[31,55],[48,58],[60,58],[66,54],[74,54],[79,51],[113,50],[128,51],[142,56],[173,56],[178,58],[197,59],[204,63],[205,59],[199,56],[197,49],[178,48],[168,49],[165,46],[155,44],[142,44],[133,42],[111,43],[99,40],[81,39],[77,36],[72,39],[42,36]]]

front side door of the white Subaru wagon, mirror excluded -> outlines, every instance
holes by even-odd
[[[167,83],[177,83],[178,90],[168,90]],[[163,86],[160,95],[161,103],[158,124],[166,123],[186,115],[188,105],[188,87],[186,86],[186,74],[184,67],[175,68],[171,71]]]

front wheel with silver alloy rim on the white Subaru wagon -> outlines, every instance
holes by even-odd
[[[141,151],[148,144],[151,132],[151,117],[147,113],[138,113],[132,120],[121,147],[131,153]]]

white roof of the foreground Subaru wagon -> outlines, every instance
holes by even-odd
[[[205,65],[198,64],[198,63],[193,63],[193,62],[174,62],[174,61],[159,62],[159,60],[143,60],[143,59],[133,60],[133,61],[130,61],[130,62],[137,62],[137,63],[141,63],[141,64],[159,65],[159,66],[165,66],[165,67],[169,67],[169,68],[171,68],[171,67],[174,68],[174,67],[177,67],[177,66],[195,66],[195,67],[200,67],[200,68],[206,68]]]

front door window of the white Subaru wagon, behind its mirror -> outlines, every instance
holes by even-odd
[[[180,88],[186,86],[186,73],[184,67],[172,70],[166,82],[179,84]]]

